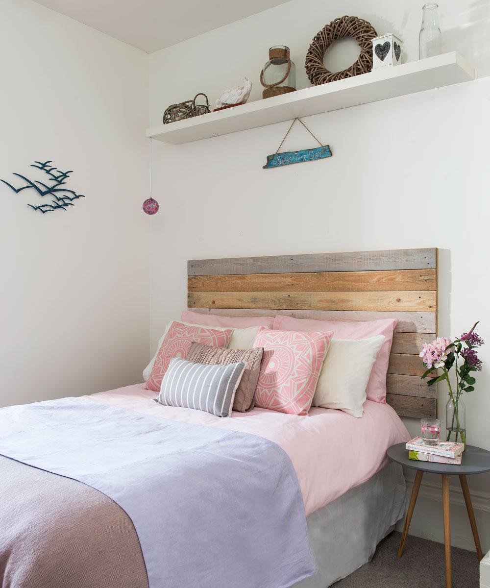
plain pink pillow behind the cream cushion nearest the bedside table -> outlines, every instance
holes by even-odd
[[[342,322],[340,320],[295,319],[292,316],[276,316],[274,329],[299,331],[333,331],[335,339],[369,339],[384,335],[371,376],[366,387],[366,397],[375,402],[386,402],[386,372],[388,372],[389,352],[393,340],[393,329],[398,319],[363,320]]]

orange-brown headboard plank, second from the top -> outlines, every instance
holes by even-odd
[[[435,269],[188,276],[189,292],[365,292],[435,289]]]

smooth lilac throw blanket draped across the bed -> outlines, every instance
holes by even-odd
[[[150,588],[285,588],[314,573],[294,467],[262,437],[64,398],[0,409],[0,454],[121,506]]]

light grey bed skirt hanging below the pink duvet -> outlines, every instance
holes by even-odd
[[[316,574],[293,588],[327,588],[369,562],[405,513],[402,467],[390,463],[307,517]],[[394,557],[395,557],[394,553]]]

